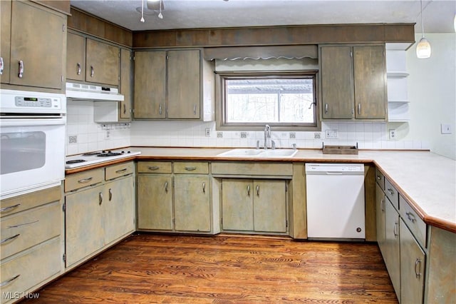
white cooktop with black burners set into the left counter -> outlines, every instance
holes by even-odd
[[[78,168],[83,166],[94,165],[95,163],[105,163],[108,161],[114,161],[115,159],[139,155],[140,153],[140,151],[130,150],[107,150],[67,156],[65,168]],[[68,161],[70,161],[71,163],[68,163]]]

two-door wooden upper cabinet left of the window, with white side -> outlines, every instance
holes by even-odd
[[[135,118],[214,120],[213,71],[197,49],[135,51]]]

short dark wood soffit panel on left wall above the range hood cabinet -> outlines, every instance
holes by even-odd
[[[129,48],[133,46],[132,31],[74,7],[71,7],[71,16],[68,16],[68,28]]]

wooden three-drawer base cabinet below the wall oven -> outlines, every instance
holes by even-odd
[[[0,201],[0,303],[63,272],[61,186]]]

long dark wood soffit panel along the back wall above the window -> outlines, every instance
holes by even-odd
[[[414,24],[337,24],[133,32],[133,48],[415,42]]]

